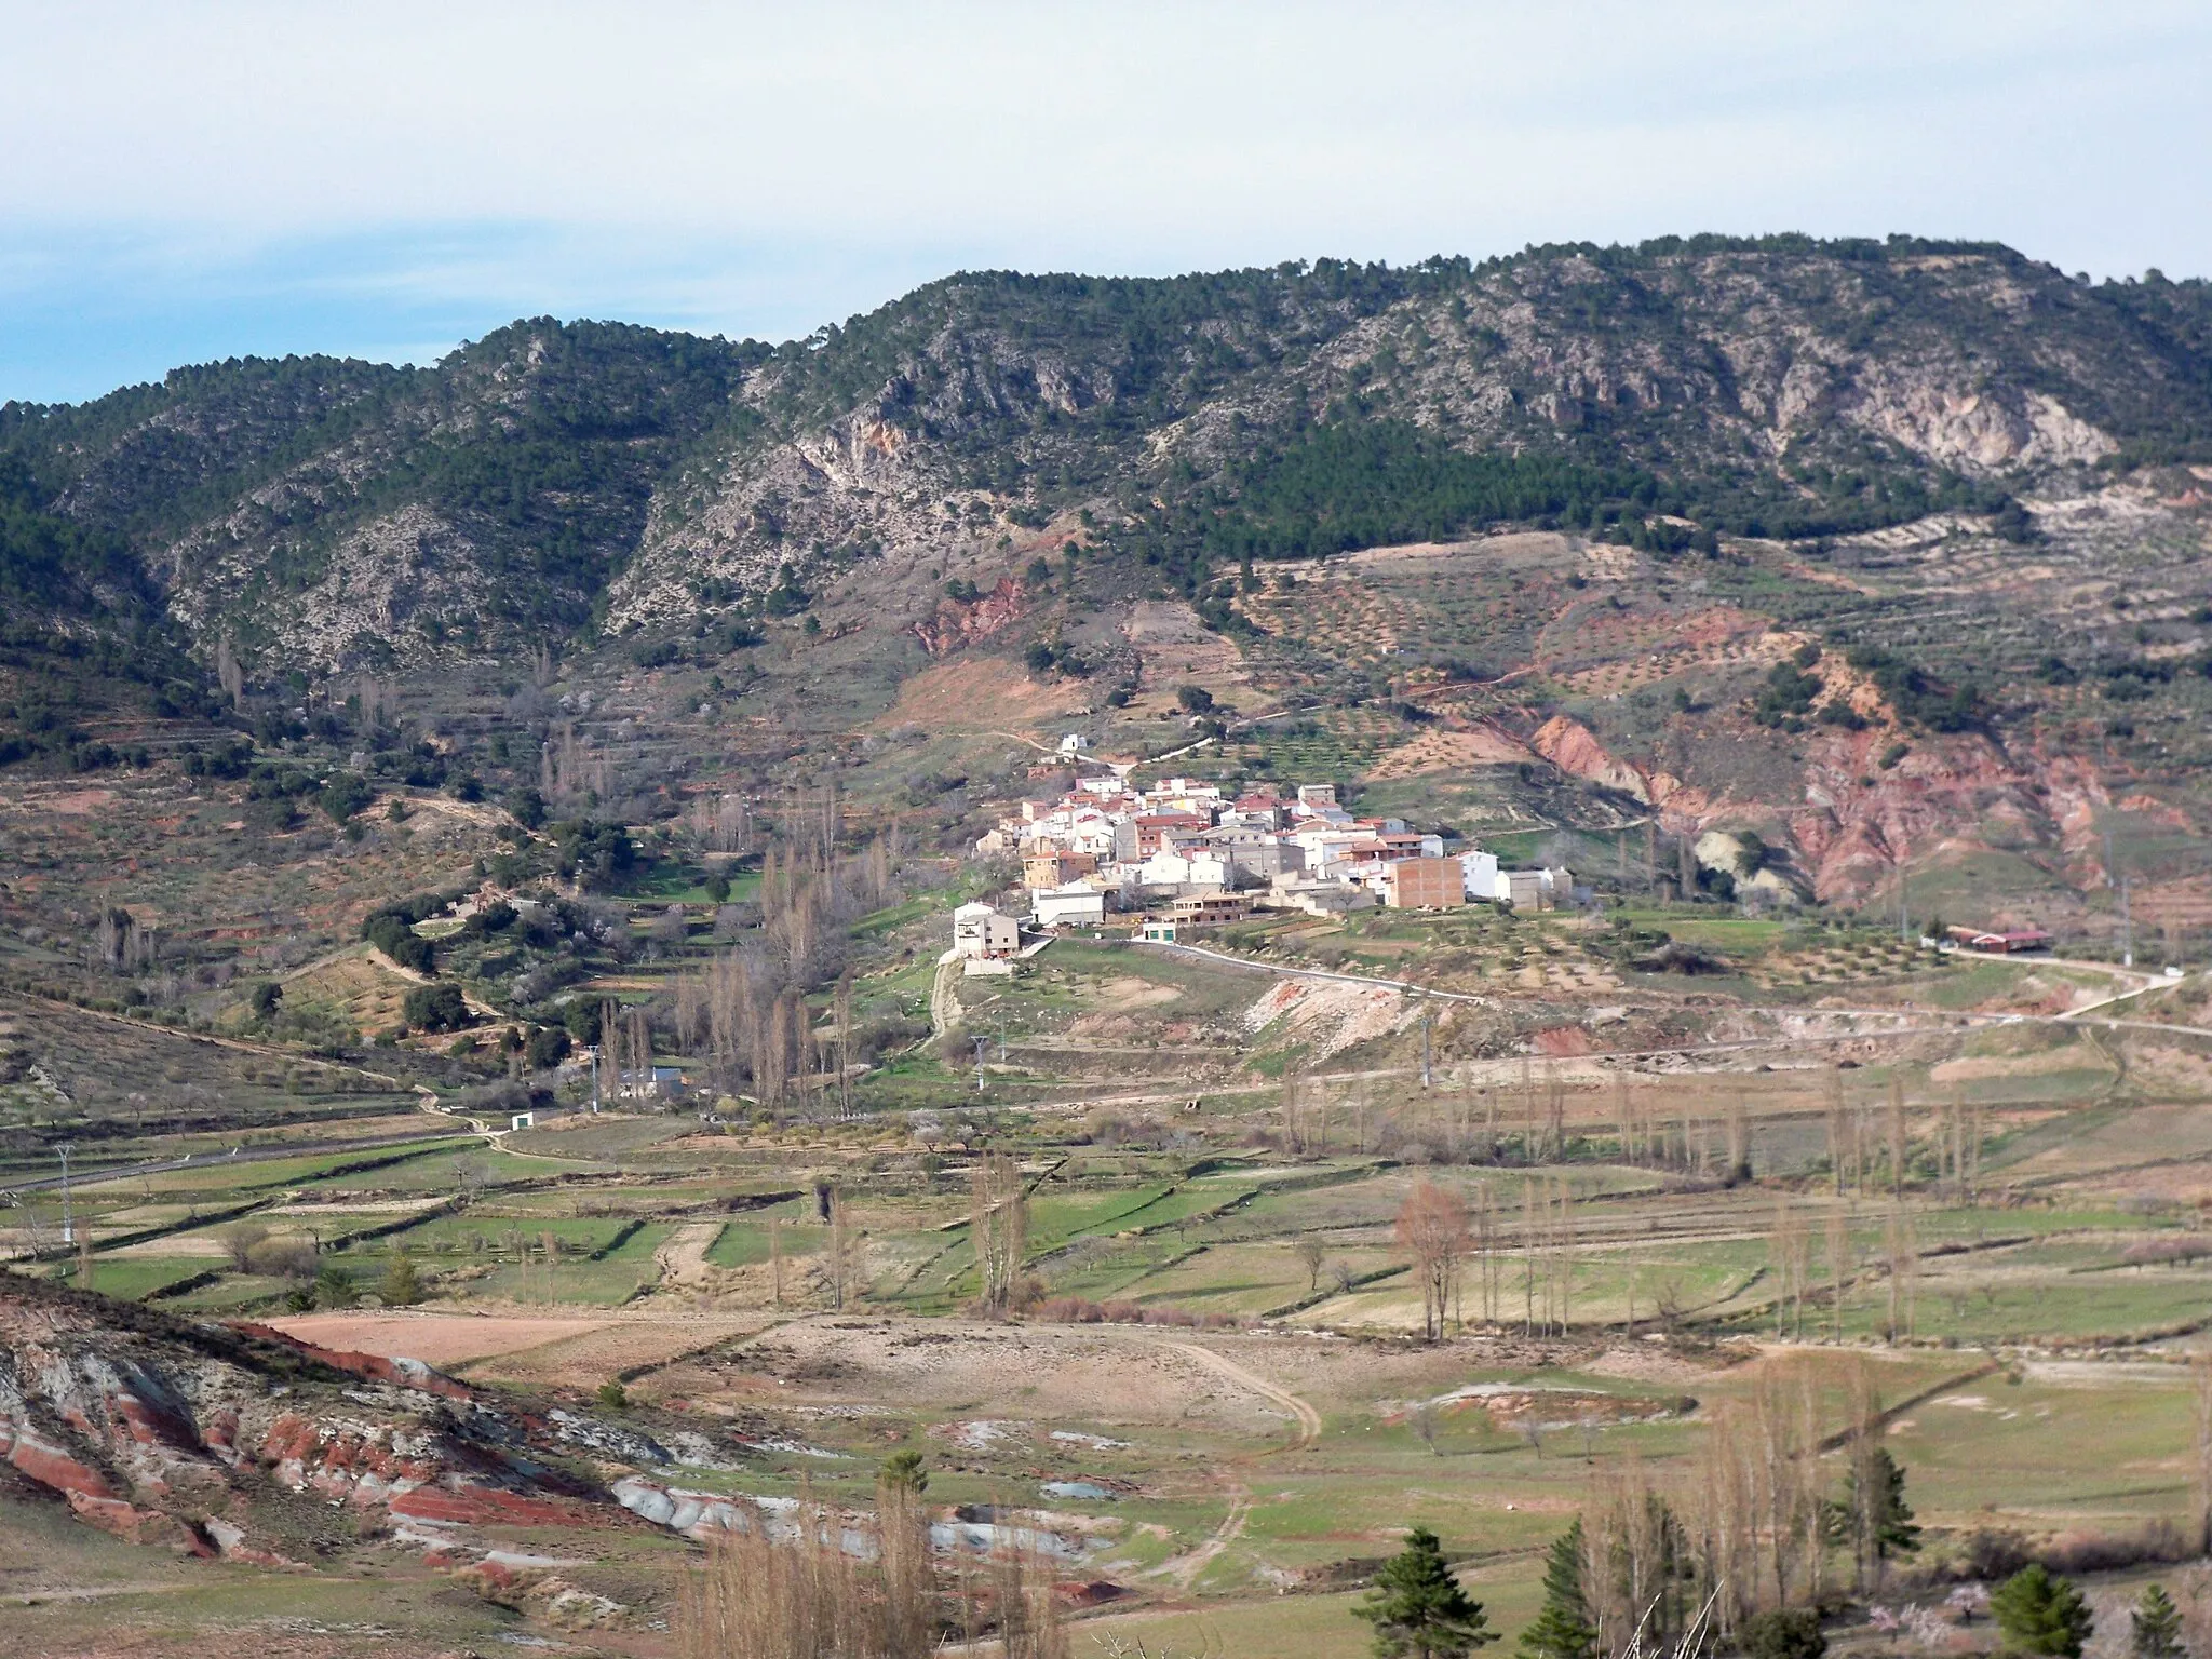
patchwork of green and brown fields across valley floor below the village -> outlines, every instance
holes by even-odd
[[[1340,730],[1402,743],[1409,728],[1363,710]],[[1478,772],[1453,785],[1469,814],[1489,810]],[[1632,830],[1566,834],[1531,825],[1500,849],[1641,852]],[[646,956],[653,907],[686,894],[641,894],[635,953],[577,984],[668,1018],[668,975],[712,949],[695,916]],[[77,1188],[91,1285],[429,1354],[540,1416],[599,1411],[661,1447],[719,1438],[703,1462],[639,1471],[714,1500],[858,1513],[883,1458],[918,1451],[940,1524],[1042,1528],[1060,1577],[1117,1586],[1077,1644],[1363,1650],[1349,1586],[1416,1520],[1511,1639],[1542,1551],[1619,1471],[1694,1502],[1728,1413],[1801,1369],[1838,1433],[1854,1369],[1874,1367],[1933,1548],[2188,1513],[2194,1407],[2172,1356],[2203,1340],[2212,1305],[2212,1254],[2194,1250],[2194,1194],[2212,1190],[2203,1044],[2055,1013],[1991,1022],[2108,995],[2108,973],[1661,902],[1223,929],[1214,942],[1254,969],[1060,940],[1009,980],[956,982],[947,1024],[989,1040],[978,1091],[971,1048],[947,1057],[929,1035],[938,922],[902,900],[860,929],[858,1022],[914,1024],[872,1053],[852,1117],[810,1091],[509,1133],[440,1075],[456,1110],[431,1119],[387,1091],[361,1097],[383,1110],[358,1121],[436,1121],[451,1141],[330,1150],[305,1137],[341,1135],[354,1097],[263,1071],[246,1084],[257,1108],[294,1117],[208,1150],[283,1157],[195,1155]],[[1710,969],[1639,967],[1659,933]],[[1422,1088],[1420,1024],[1396,993],[1290,995],[1281,967],[1478,1000],[1431,1011]],[[807,1004],[810,1031],[832,1029],[832,995]],[[2190,995],[2161,991],[2168,1022]],[[1298,998],[1380,1000],[1365,1022],[1301,1024],[1283,1013]],[[219,1064],[239,1077],[272,1057]],[[1858,1137],[1843,1181],[1838,1097]],[[1971,1157],[1947,1139],[1964,1133]],[[303,1139],[259,1139],[281,1135]],[[978,1252],[984,1152],[1020,1175],[1011,1261],[998,1212],[982,1243],[1000,1256]],[[1405,1225],[1418,1192],[1469,1219],[1440,1316]],[[29,1203],[51,1234],[53,1201]],[[234,1210],[268,1228],[246,1267]],[[276,1261],[301,1241],[314,1274]],[[60,1252],[24,1267],[80,1274]],[[383,1305],[394,1285],[420,1301]],[[2106,1469],[2035,1440],[2108,1413],[2126,1431]],[[1823,1491],[1840,1478],[1843,1455],[1820,1453]],[[624,1615],[639,1650],[692,1548],[650,1537],[666,1559],[591,1546],[593,1584],[644,1610]],[[577,1548],[507,1540],[555,1544]]]

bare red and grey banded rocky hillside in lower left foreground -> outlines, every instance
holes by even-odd
[[[628,1524],[533,1455],[573,1438],[416,1363],[0,1276],[0,1460],[139,1544],[296,1559],[332,1506],[447,1557],[453,1528]]]

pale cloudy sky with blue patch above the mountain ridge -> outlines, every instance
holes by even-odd
[[[1668,232],[2212,274],[2212,7],[0,0],[0,400]]]

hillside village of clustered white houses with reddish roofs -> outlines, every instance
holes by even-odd
[[[1086,768],[1057,801],[1024,801],[975,841],[978,856],[1018,856],[1026,914],[987,902],[953,914],[947,960],[1002,973],[1040,942],[1022,925],[1124,927],[1175,945],[1194,927],[1256,909],[1343,916],[1385,909],[1458,909],[1473,902],[1542,911],[1584,902],[1573,872],[1504,869],[1498,854],[1422,832],[1402,818],[1356,816],[1334,783],[1239,790],[1197,779],[1133,787],[1124,770]]]

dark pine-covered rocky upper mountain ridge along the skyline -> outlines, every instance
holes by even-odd
[[[1953,243],[949,276],[779,349],[515,323],[0,416],[212,653],[327,672],[675,619],[1088,507],[1199,566],[1495,520],[1869,529],[2212,445],[2203,283]],[[18,606],[22,599],[15,602]],[[274,661],[270,666],[276,666]]]

